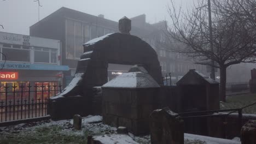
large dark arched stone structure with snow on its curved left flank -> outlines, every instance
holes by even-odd
[[[142,64],[162,85],[158,56],[146,41],[125,33],[107,34],[84,44],[84,54],[74,79],[62,93],[50,98],[48,112],[51,117],[61,119],[74,114],[91,114],[92,87],[107,83],[108,63]]]

